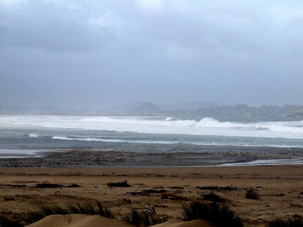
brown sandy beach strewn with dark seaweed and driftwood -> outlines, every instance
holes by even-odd
[[[133,207],[144,208],[156,205],[155,211],[158,214],[169,215],[169,220],[172,220],[170,222],[175,223],[176,220],[182,218],[181,206],[187,201],[161,200],[161,193],[157,192],[141,195],[130,194],[130,192],[142,192],[145,189],[166,190],[189,200],[201,198],[203,194],[212,191],[226,199],[236,214],[245,220],[245,226],[263,226],[263,223],[276,217],[300,215],[302,212],[303,198],[299,193],[303,191],[303,166],[298,165],[1,168],[0,179],[0,210],[13,213],[26,213],[35,210],[41,204],[57,203],[64,206],[66,203],[93,202],[97,199],[110,208],[117,217],[125,215]],[[107,186],[109,182],[125,180],[131,187]],[[36,187],[38,183],[43,182],[64,186],[78,184],[81,187],[56,189]],[[233,186],[234,190],[197,188],[207,186]],[[249,188],[256,189],[260,199],[245,199],[245,193]],[[76,217],[74,222],[75,220]],[[181,223],[181,221],[178,222]],[[127,225],[126,222],[122,223]]]

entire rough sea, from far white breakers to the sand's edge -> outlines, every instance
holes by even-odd
[[[0,166],[303,163],[303,121],[0,115]]]

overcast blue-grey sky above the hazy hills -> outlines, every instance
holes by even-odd
[[[0,0],[0,105],[302,105],[302,43],[301,0]]]

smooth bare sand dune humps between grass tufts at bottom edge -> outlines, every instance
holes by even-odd
[[[50,215],[28,227],[128,227],[131,224],[102,217],[100,215],[71,214],[71,215]],[[194,220],[185,222],[181,220],[171,220],[155,227],[210,227],[204,220]]]

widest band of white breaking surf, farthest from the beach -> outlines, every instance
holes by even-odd
[[[195,120],[146,119],[140,117],[95,116],[0,116],[2,129],[82,129],[118,132],[272,137],[303,139],[303,121],[238,123],[212,118]]]

